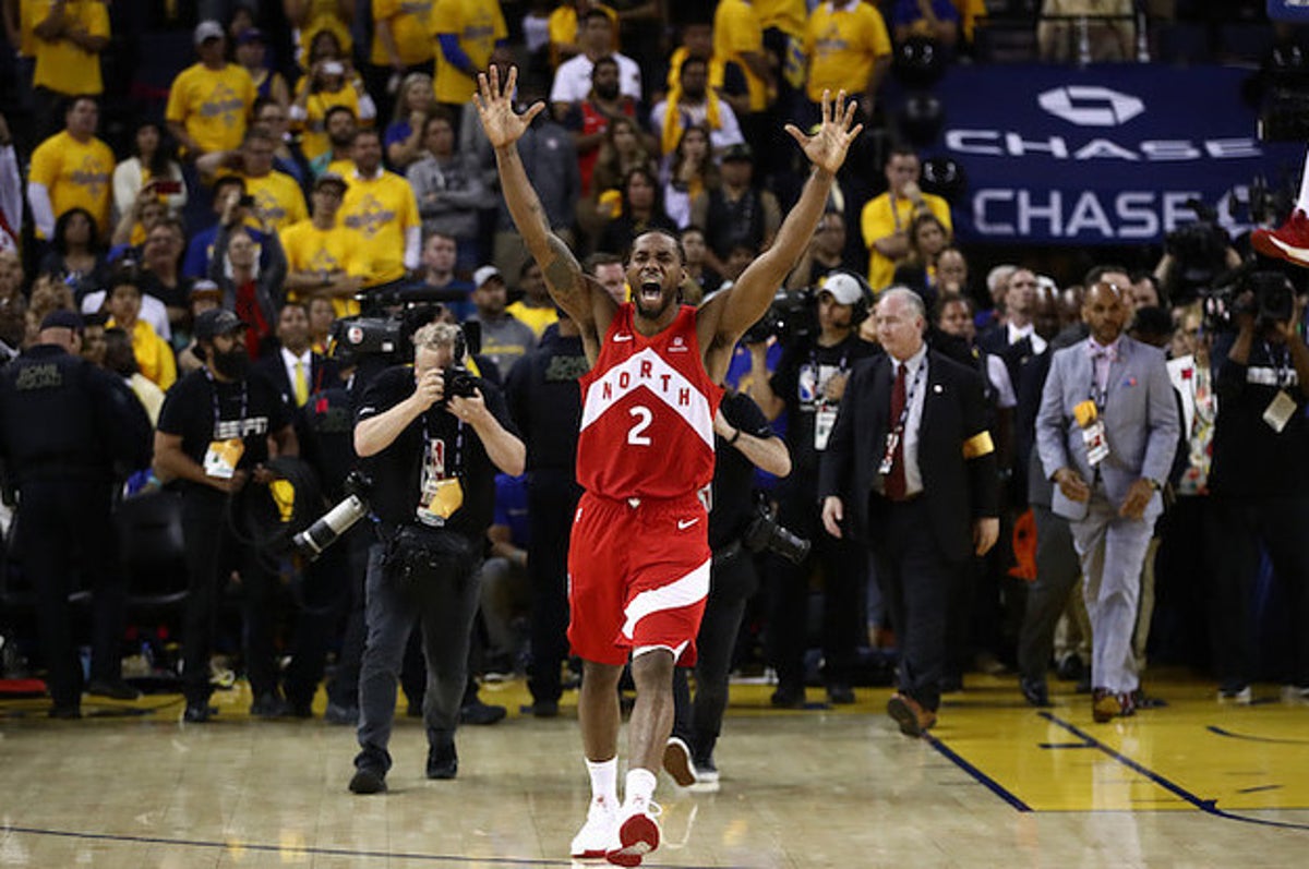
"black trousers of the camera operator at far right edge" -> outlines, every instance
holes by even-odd
[[[1291,666],[1271,674],[1282,682],[1309,687],[1309,496],[1213,499],[1215,526],[1207,539],[1217,542],[1213,563],[1217,585],[1212,597],[1213,670],[1223,688],[1240,688],[1257,679],[1254,589],[1261,544],[1285,590],[1288,627],[1293,639]],[[1219,538],[1217,535],[1221,535]],[[1219,542],[1220,541],[1220,542]]]

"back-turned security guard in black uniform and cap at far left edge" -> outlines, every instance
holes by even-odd
[[[151,461],[151,421],[131,390],[81,359],[81,318],[56,310],[38,343],[0,377],[0,450],[18,489],[18,546],[37,593],[37,626],[54,718],[81,717],[81,669],[68,594],[73,567],[94,592],[88,694],[131,700],[119,640],[126,589],[110,521],[115,465]],[[72,558],[76,554],[76,560]]]

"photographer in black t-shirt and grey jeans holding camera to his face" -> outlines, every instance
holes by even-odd
[[[454,729],[495,471],[521,474],[526,455],[500,391],[462,368],[457,326],[428,323],[414,334],[414,368],[380,374],[355,415],[355,452],[374,482],[372,506],[385,543],[368,554],[353,793],[386,789],[395,684],[418,622],[428,671],[427,776],[456,776]]]

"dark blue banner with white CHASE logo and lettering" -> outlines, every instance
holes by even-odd
[[[1246,226],[1233,195],[1299,177],[1305,147],[1258,139],[1247,69],[1102,64],[953,67],[925,153],[963,169],[952,203],[965,242],[1152,243],[1195,220],[1189,199]]]

